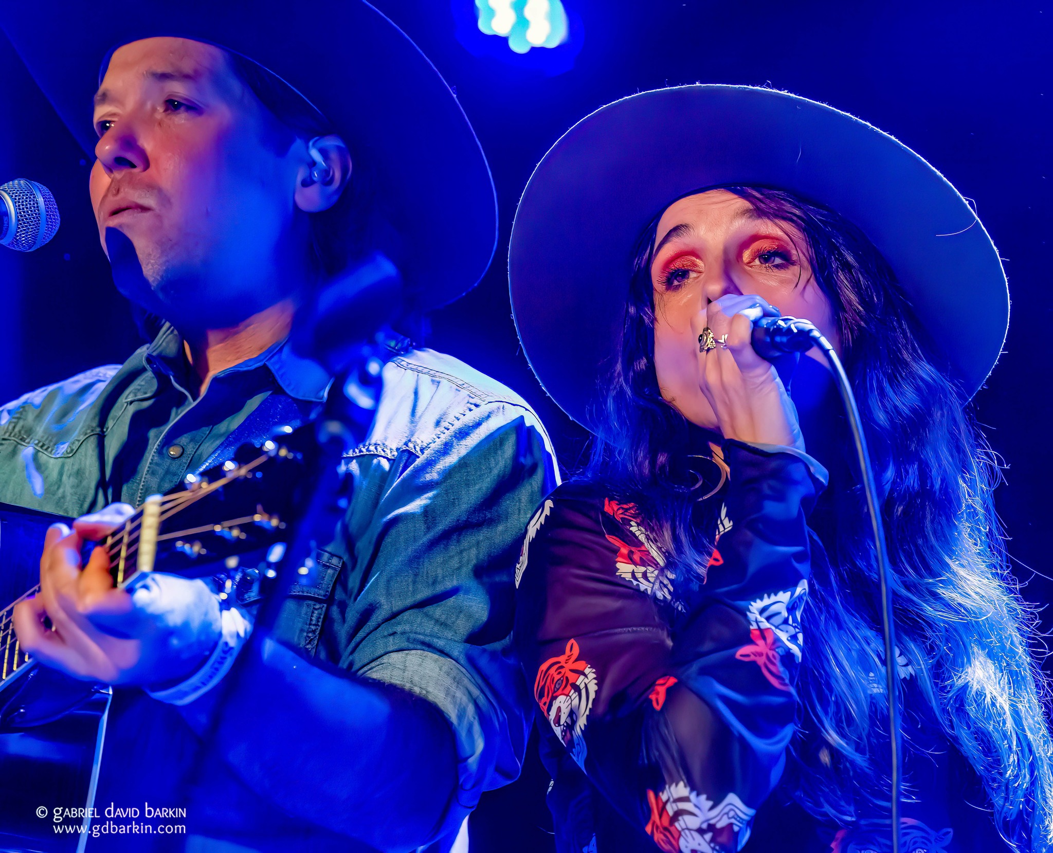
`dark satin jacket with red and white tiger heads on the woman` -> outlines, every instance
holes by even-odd
[[[530,523],[514,637],[557,853],[891,849],[888,817],[826,824],[779,785],[808,654],[801,611],[826,564],[807,524],[826,472],[784,448],[726,441],[723,453],[730,477],[700,513],[714,541],[704,582],[674,578],[645,513],[600,483],[564,483]],[[859,677],[882,691],[882,672]],[[905,742],[902,850],[1007,850],[938,726],[911,711]]]

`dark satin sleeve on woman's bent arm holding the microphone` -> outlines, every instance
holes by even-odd
[[[521,558],[515,637],[539,725],[669,853],[738,850],[794,728],[824,472],[781,448],[729,441],[724,458],[703,583],[671,577],[636,507],[565,489]]]

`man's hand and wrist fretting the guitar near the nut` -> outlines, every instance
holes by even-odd
[[[148,573],[128,590],[114,586],[110,554],[97,545],[85,566],[81,548],[119,530],[132,515],[112,503],[53,524],[40,558],[40,592],[16,606],[23,651],[76,678],[112,685],[176,683],[208,657],[220,634],[219,602],[201,580]],[[44,618],[51,620],[51,628]]]

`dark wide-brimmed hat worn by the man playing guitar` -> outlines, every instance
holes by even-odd
[[[177,36],[240,54],[300,93],[364,156],[386,219],[383,244],[372,247],[395,261],[422,308],[456,299],[490,265],[497,202],[468,118],[409,37],[361,0],[148,0],[105,9],[35,0],[0,4],[0,27],[90,155],[92,98],[114,48]]]

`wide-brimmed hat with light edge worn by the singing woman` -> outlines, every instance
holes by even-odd
[[[633,253],[673,201],[752,184],[823,204],[891,264],[966,393],[1001,352],[1009,292],[975,213],[929,163],[888,134],[815,101],[752,86],[644,92],[596,111],[526,184],[509,252],[523,351],[545,391],[594,430],[616,356]]]

